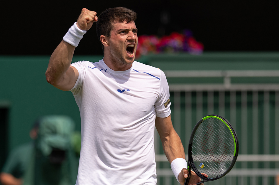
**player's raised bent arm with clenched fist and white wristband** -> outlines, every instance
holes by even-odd
[[[78,17],[76,26],[65,35],[50,57],[45,73],[47,82],[61,90],[71,90],[78,79],[78,70],[70,66],[75,48],[85,31],[89,30],[93,22],[98,21],[95,11],[84,8]],[[65,41],[66,40],[66,41]]]

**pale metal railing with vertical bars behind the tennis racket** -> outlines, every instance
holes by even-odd
[[[188,151],[193,126],[203,116],[221,115],[237,132],[239,157],[236,165],[224,178],[206,184],[276,184],[275,176],[279,174],[279,83],[232,83],[231,79],[277,78],[279,70],[164,72],[167,78],[223,78],[223,83],[169,84],[173,125],[185,151]],[[157,184],[177,184],[157,137]]]

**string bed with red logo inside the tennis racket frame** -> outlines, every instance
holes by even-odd
[[[204,164],[201,173],[208,178],[220,176],[233,161],[234,142],[228,127],[218,119],[209,118],[201,123],[193,137],[192,156],[195,166]]]

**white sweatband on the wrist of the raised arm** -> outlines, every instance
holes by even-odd
[[[63,40],[70,45],[77,47],[79,41],[81,41],[85,33],[86,31],[79,29],[75,22],[74,25],[70,27],[69,31],[63,37]]]

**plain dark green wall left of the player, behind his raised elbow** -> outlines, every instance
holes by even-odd
[[[45,79],[50,56],[0,56],[0,105],[8,107],[9,150],[27,142],[37,117],[63,114],[71,116],[80,130],[78,106],[71,92],[61,91]],[[79,60],[74,57],[74,61]],[[102,56],[83,56],[99,61]]]

